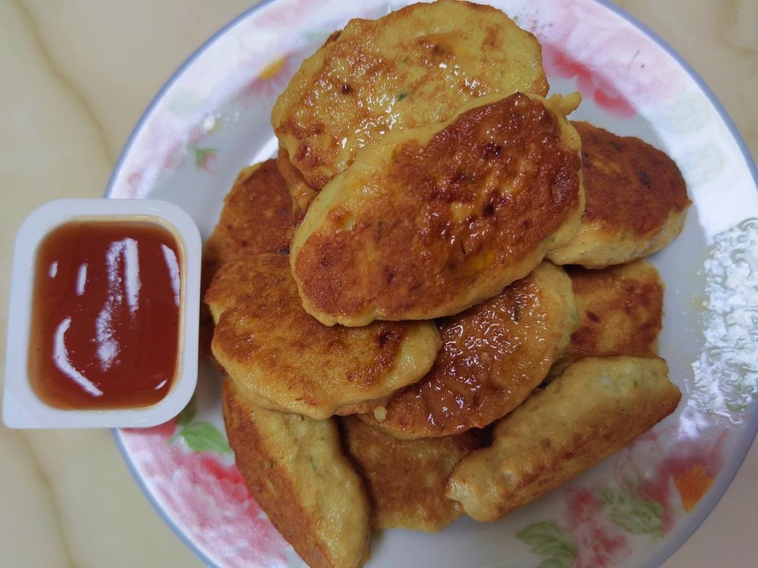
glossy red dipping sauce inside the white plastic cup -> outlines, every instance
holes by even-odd
[[[180,350],[180,248],[149,222],[77,221],[36,253],[29,376],[58,408],[146,407]]]

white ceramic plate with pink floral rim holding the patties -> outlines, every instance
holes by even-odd
[[[207,237],[238,171],[274,154],[271,107],[302,58],[351,17],[405,3],[277,0],[242,14],[152,102],[108,195],[173,201]],[[582,92],[573,118],[640,136],[687,180],[684,233],[651,257],[667,286],[660,351],[683,397],[652,432],[500,522],[385,531],[369,566],[658,566],[713,509],[758,427],[755,168],[709,89],[625,14],[594,0],[490,3],[540,40],[553,92]],[[208,564],[300,565],[234,467],[218,374],[200,366],[178,420],[116,433],[127,463]]]

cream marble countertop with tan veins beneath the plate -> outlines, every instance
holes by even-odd
[[[255,0],[0,0],[0,345],[11,247],[45,201],[99,197],[143,109],[176,67]],[[758,156],[758,0],[622,0],[700,73]],[[4,354],[2,357],[5,357]],[[4,361],[0,361],[4,368]],[[202,566],[143,497],[111,432],[0,426],[0,566]],[[667,568],[752,566],[758,446]]]

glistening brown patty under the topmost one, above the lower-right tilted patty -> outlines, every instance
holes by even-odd
[[[577,322],[568,276],[544,262],[503,293],[439,320],[443,348],[431,371],[360,417],[399,438],[482,428],[521,404],[562,356]]]

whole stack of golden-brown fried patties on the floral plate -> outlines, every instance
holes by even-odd
[[[496,520],[678,404],[640,259],[684,182],[547,90],[493,8],[352,20],[227,196],[205,254],[227,434],[311,566],[359,566],[372,528]]]

